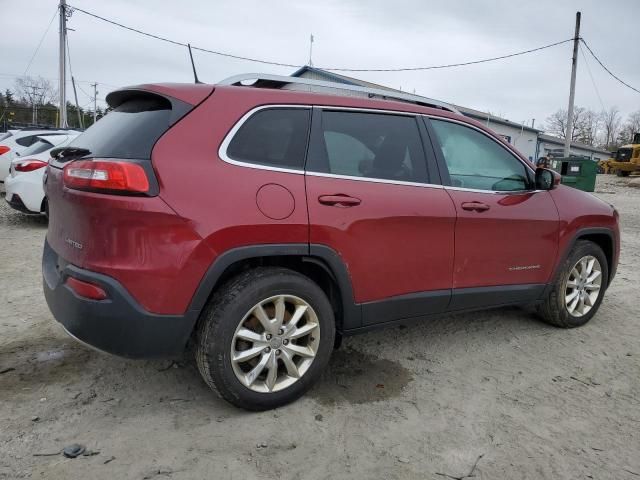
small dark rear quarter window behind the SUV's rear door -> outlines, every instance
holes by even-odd
[[[304,168],[310,112],[271,108],[252,115],[227,148],[233,160],[279,168]]]

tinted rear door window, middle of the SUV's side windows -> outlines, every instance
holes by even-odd
[[[335,175],[427,182],[426,162],[414,117],[323,111],[307,169]]]

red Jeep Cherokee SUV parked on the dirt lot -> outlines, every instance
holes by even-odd
[[[126,357],[193,344],[209,386],[260,410],[302,395],[343,335],[502,305],[560,327],[596,313],[612,206],[446,104],[242,80],[118,90],[53,152],[44,292],[72,336]]]

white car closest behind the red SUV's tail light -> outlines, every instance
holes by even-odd
[[[10,174],[5,179],[5,200],[16,210],[29,214],[48,214],[42,177],[49,164],[51,150],[64,147],[79,134],[43,135],[25,148],[11,162]]]

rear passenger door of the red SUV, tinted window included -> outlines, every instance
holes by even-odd
[[[310,243],[342,257],[363,324],[444,311],[455,208],[428,173],[424,126],[412,115],[316,109],[311,130]]]

